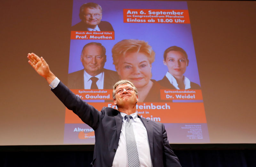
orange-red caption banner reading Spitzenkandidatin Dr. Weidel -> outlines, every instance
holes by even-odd
[[[160,90],[161,100],[203,100],[201,90]]]

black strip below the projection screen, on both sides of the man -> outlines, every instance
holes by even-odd
[[[173,148],[182,167],[254,167],[256,164],[256,150],[252,145],[223,144],[217,148],[202,145],[200,149],[195,145],[174,145]],[[84,167],[92,162],[90,149],[92,145],[2,147],[0,164],[3,167]]]

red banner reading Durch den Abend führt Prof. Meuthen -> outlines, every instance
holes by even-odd
[[[114,31],[71,31],[71,40],[115,40]]]

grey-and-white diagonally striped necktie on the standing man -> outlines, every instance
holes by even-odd
[[[127,149],[127,157],[128,157],[128,166],[129,167],[139,167],[139,155],[137,150],[137,145],[135,141],[135,136],[133,133],[132,127],[132,116],[125,115],[124,119],[127,119],[125,123],[125,139],[126,139],[126,149]]]

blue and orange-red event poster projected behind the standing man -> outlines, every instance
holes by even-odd
[[[112,87],[128,79],[138,89],[138,114],[164,123],[170,143],[209,143],[187,3],[90,2],[73,1],[69,89],[99,111],[116,109]],[[94,138],[66,108],[64,143]]]

